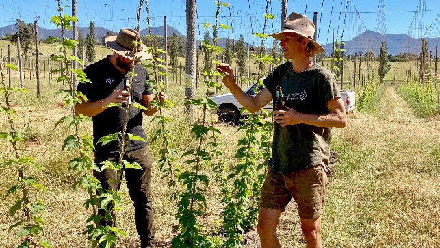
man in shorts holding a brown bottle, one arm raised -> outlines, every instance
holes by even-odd
[[[272,158],[261,188],[257,226],[261,248],[280,247],[276,228],[292,199],[298,204],[306,247],[322,248],[330,132],[331,127],[345,127],[347,116],[335,78],[310,60],[323,51],[312,38],[314,32],[309,18],[292,12],[281,32],[270,34],[280,40],[284,58],[291,62],[276,67],[263,80],[266,88],[255,96],[237,86],[231,66],[218,66],[224,86],[250,112],[275,100],[277,86],[283,89],[286,109],[274,111]]]

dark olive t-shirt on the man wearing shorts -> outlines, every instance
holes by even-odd
[[[306,71],[294,72],[292,62],[276,67],[263,80],[276,101],[276,86],[281,86],[285,105],[303,114],[327,114],[327,102],[341,97],[332,73],[313,64]],[[270,166],[278,173],[289,173],[316,164],[328,164],[330,128],[298,124],[281,127],[274,122]]]

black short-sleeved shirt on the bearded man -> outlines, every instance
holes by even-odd
[[[123,75],[116,67],[109,61],[108,55],[106,58],[99,60],[94,64],[90,64],[84,69],[88,79],[92,82],[81,83],[78,85],[77,91],[82,92],[88,98],[88,101],[98,101],[107,98],[116,88],[124,88],[124,80],[126,75]],[[136,74],[133,77],[133,84],[131,87],[131,101],[141,103],[142,95],[151,94],[150,88],[145,84],[148,79],[146,69],[143,69],[140,64],[137,64],[134,69]],[[128,75],[127,75],[128,77]],[[110,107],[97,114],[93,118],[93,141],[96,153],[112,154],[119,153],[120,143],[109,142],[107,145],[101,146],[97,141],[109,134],[122,132],[125,121],[125,110],[120,107]],[[146,142],[140,140],[129,140],[128,134],[140,136],[146,140],[144,129],[142,128],[142,110],[131,107],[129,109],[129,121],[127,123],[127,137],[128,150],[133,151],[145,147]]]

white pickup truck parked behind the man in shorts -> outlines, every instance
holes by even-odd
[[[244,92],[248,95],[255,95],[257,92],[257,83],[252,84]],[[263,86],[259,86],[260,90],[263,89]],[[352,112],[354,110],[354,106],[356,105],[356,95],[353,90],[341,90],[341,97],[344,101],[344,105],[346,107],[346,112]],[[240,110],[242,109],[242,105],[235,99],[235,97],[231,93],[218,95],[215,97],[211,97],[211,100],[214,103],[217,103],[218,110],[213,109],[213,114],[218,114],[218,121],[220,123],[233,123],[236,124],[240,120],[240,118],[249,115],[249,112],[244,112],[240,114]],[[268,105],[263,108],[268,113],[273,112],[272,102],[268,103]],[[255,114],[263,114],[262,111],[255,112]]]

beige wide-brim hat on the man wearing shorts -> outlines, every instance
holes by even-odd
[[[287,17],[285,23],[283,24],[283,27],[281,27],[281,31],[274,34],[269,34],[276,40],[281,40],[281,36],[286,33],[295,33],[298,34],[307,40],[309,40],[314,49],[313,54],[322,53],[324,51],[324,48],[322,48],[321,45],[319,45],[315,40],[313,40],[313,35],[315,34],[315,25],[312,21],[310,21],[307,16],[303,16],[302,14],[298,14],[296,12],[292,12],[292,14]]]

